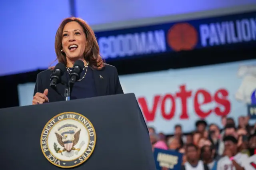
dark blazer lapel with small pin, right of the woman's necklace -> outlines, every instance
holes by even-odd
[[[96,93],[97,96],[103,96],[106,95],[107,90],[107,77],[103,75],[103,72],[98,71],[96,69],[92,68],[95,87],[96,87]]]

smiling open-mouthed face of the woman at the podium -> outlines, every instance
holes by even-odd
[[[72,21],[64,26],[62,32],[62,48],[67,59],[81,58],[84,54],[86,36],[82,26]]]

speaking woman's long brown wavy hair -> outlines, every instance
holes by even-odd
[[[100,56],[100,47],[96,40],[94,31],[92,30],[92,28],[90,28],[90,26],[84,20],[76,17],[69,17],[64,19],[56,32],[56,36],[55,36],[55,53],[57,55],[56,60],[58,60],[58,62],[64,63],[64,65],[67,65],[66,55],[64,52],[60,51],[62,49],[62,32],[63,32],[64,26],[72,21],[75,21],[78,24],[80,24],[80,26],[82,26],[86,36],[87,44],[84,50],[84,59],[89,62],[92,68],[97,70],[102,69],[104,67],[104,61]],[[50,67],[50,69],[52,69],[52,67]]]

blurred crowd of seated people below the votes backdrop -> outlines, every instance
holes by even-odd
[[[256,124],[249,126],[249,117],[222,117],[223,129],[206,121],[196,122],[195,131],[183,134],[176,125],[174,135],[156,134],[148,127],[152,149],[176,150],[183,154],[182,170],[244,170],[244,162],[256,154]]]

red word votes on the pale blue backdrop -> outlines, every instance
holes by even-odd
[[[214,94],[209,93],[205,89],[198,89],[192,95],[192,90],[186,90],[186,85],[181,85],[179,88],[180,91],[175,94],[166,94],[164,96],[155,95],[152,107],[148,107],[148,104],[144,97],[138,98],[138,102],[140,104],[146,121],[154,121],[156,110],[158,107],[161,107],[161,114],[164,119],[172,119],[176,111],[175,101],[177,98],[180,98],[182,103],[182,113],[180,114],[180,119],[189,119],[187,100],[191,97],[193,99],[195,113],[200,118],[205,118],[212,112],[215,112],[218,116],[224,116],[230,113],[230,101],[228,100],[228,91],[226,89],[218,89]],[[198,101],[200,95],[203,95],[204,97],[203,102]],[[165,109],[166,102],[171,102],[172,107],[170,108],[170,111],[166,111]],[[208,111],[202,111],[200,109],[202,105],[212,102],[216,102],[218,104],[217,107],[209,109]],[[220,106],[224,107],[222,111],[220,109]],[[152,110],[150,111],[149,108],[152,108]]]

